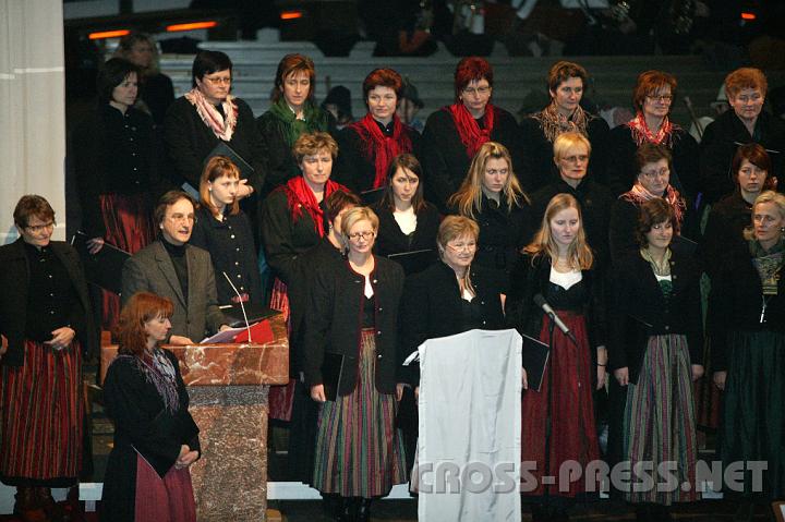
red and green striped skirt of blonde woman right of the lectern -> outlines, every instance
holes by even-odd
[[[354,391],[322,404],[313,482],[322,493],[381,497],[407,481],[395,394],[379,393],[374,384],[375,351],[374,330],[363,329]]]

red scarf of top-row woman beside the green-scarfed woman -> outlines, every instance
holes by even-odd
[[[398,116],[392,117],[392,136],[386,136],[379,129],[371,112],[360,121],[348,125],[358,133],[363,142],[363,154],[365,159],[374,162],[376,175],[374,177],[374,189],[381,189],[387,184],[387,169],[390,161],[403,153],[411,153],[412,145],[406,125],[401,123]]]

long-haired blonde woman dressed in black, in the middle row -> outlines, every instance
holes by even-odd
[[[474,263],[506,283],[516,255],[533,229],[529,197],[512,170],[507,148],[496,142],[483,144],[448,204],[454,214],[480,226]]]

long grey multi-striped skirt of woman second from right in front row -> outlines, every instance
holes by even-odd
[[[647,463],[645,474],[661,484],[642,491],[630,488],[624,491],[625,500],[669,506],[697,499],[696,412],[685,336],[649,338],[638,384],[627,387],[623,445],[623,460],[629,461],[630,469]],[[668,477],[657,474],[664,462],[672,463],[667,470],[676,477],[675,487],[665,486]],[[637,481],[635,471],[631,481]]]

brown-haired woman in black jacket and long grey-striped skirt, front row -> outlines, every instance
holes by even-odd
[[[674,236],[673,207],[656,198],[641,205],[640,250],[613,269],[608,320],[608,364],[626,394],[621,461],[635,472],[675,461],[671,470],[685,490],[640,491],[630,485],[624,498],[640,521],[671,520],[668,506],[696,500],[696,412],[692,381],[703,375],[700,269],[691,257],[668,246]]]

